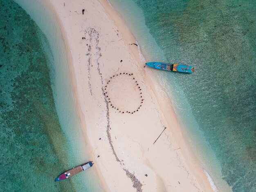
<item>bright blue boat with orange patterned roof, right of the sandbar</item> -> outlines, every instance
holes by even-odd
[[[149,67],[155,69],[162,69],[166,71],[178,71],[184,73],[193,73],[194,67],[189,65],[181,65],[181,64],[174,64],[174,63],[157,63],[157,62],[149,62],[145,63]]]

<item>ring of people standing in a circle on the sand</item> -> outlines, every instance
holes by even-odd
[[[113,75],[112,77],[110,77],[110,80],[111,80],[112,78],[117,77],[118,75],[133,76],[133,74],[119,73],[119,74],[116,74],[116,75]],[[106,92],[106,89],[107,89],[108,85],[105,86],[104,95],[106,96],[106,99],[107,99],[108,103],[110,104],[110,107],[112,107],[113,109],[116,109],[119,113],[122,113],[122,114],[124,114],[124,113],[134,114],[135,112],[138,112],[138,111],[139,111],[139,109],[140,109],[140,107],[142,106],[142,103],[143,103],[143,101],[144,101],[144,99],[143,99],[142,96],[141,96],[142,92],[141,92],[141,88],[140,88],[140,86],[139,86],[139,83],[137,82],[137,80],[135,80],[135,78],[132,78],[132,79],[135,81],[135,84],[136,84],[138,90],[140,91],[139,94],[140,94],[140,100],[141,100],[139,107],[137,107],[137,109],[135,109],[134,111],[126,111],[126,112],[124,112],[124,111],[122,111],[121,109],[119,109],[118,107],[115,107],[115,106],[111,103],[110,98],[108,97],[108,92]],[[108,80],[107,84],[110,83],[110,80]]]

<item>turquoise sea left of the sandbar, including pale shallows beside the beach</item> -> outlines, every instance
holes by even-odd
[[[0,0],[0,7],[0,191],[101,191],[93,167],[54,182],[90,161],[70,82],[61,79],[68,68],[56,55],[65,55],[51,51],[53,41],[17,3]]]

